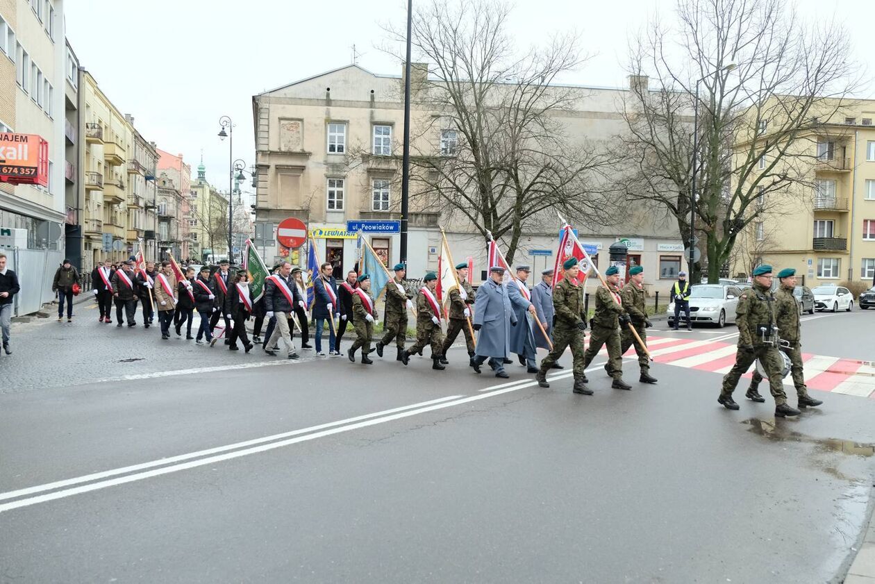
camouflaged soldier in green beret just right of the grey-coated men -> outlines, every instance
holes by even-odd
[[[547,371],[553,367],[553,363],[565,352],[566,347],[571,348],[571,357],[574,360],[574,392],[587,396],[592,391],[587,389],[586,374],[584,373],[584,340],[586,334],[586,314],[584,313],[584,287],[577,284],[577,274],[580,268],[577,259],[570,257],[562,264],[565,271],[564,278],[553,289],[553,306],[556,309],[556,325],[553,327],[553,348],[549,355],[541,362],[535,379],[541,387],[549,387],[547,383]]]

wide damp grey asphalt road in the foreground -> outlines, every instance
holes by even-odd
[[[875,311],[816,316],[805,351],[872,359]],[[96,315],[13,347],[0,582],[840,582],[872,508],[872,398],[776,420],[697,369],[616,391],[599,359],[584,397],[458,348],[280,363]]]

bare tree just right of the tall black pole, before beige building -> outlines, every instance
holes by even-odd
[[[517,53],[509,13],[488,0],[431,0],[415,13],[412,44],[430,75],[414,88],[428,113],[411,123],[411,197],[504,237],[512,261],[523,232],[556,225],[554,209],[602,226],[616,205],[605,149],[572,140],[561,122],[582,96],[554,84],[583,62],[577,37]]]

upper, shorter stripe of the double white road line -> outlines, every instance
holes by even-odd
[[[383,410],[382,412],[367,413],[367,414],[363,414],[361,416],[355,416],[354,418],[340,419],[336,422],[328,422],[325,424],[319,424],[318,426],[310,426],[307,428],[301,428],[300,430],[292,430],[291,432],[283,432],[283,433],[279,433],[279,434],[273,434],[271,436],[264,436],[262,438],[255,438],[253,440],[244,440],[242,442],[236,442],[235,444],[228,444],[228,445],[222,446],[222,447],[207,448],[206,450],[199,450],[197,452],[192,452],[192,453],[187,453],[187,454],[178,454],[176,456],[170,456],[168,458],[159,459],[158,461],[143,462],[140,464],[130,465],[129,467],[114,468],[112,470],[104,470],[102,472],[94,473],[91,475],[77,476],[77,477],[72,478],[72,479],[66,479],[63,481],[56,481],[56,482],[48,482],[46,484],[37,485],[35,487],[28,487],[26,489],[12,490],[12,491],[9,491],[6,493],[0,493],[0,501],[4,501],[6,499],[14,499],[14,498],[19,497],[19,496],[33,495],[34,493],[41,493],[41,492],[46,491],[46,490],[53,490],[53,489],[60,489],[62,487],[69,487],[69,486],[72,486],[75,484],[80,484],[82,482],[97,481],[100,479],[109,478],[110,476],[124,475],[126,473],[131,473],[131,472],[134,472],[137,470],[145,470],[146,468],[161,467],[161,466],[165,466],[167,464],[172,464],[174,462],[188,461],[188,460],[191,460],[193,458],[200,458],[201,456],[207,456],[209,454],[219,454],[222,452],[228,452],[228,450],[235,450],[237,448],[251,447],[251,446],[255,446],[256,444],[263,444],[264,442],[270,442],[273,440],[281,440],[283,438],[289,438],[290,436],[297,436],[299,434],[315,432],[318,430],[324,430],[325,428],[330,428],[332,426],[342,426],[344,424],[358,422],[358,421],[363,420],[363,419],[376,418],[379,416],[384,416],[384,415],[392,414],[395,412],[403,412],[404,410],[418,408],[418,407],[422,407],[425,405],[440,404],[442,402],[446,402],[446,401],[449,401],[451,399],[458,399],[461,397],[462,396],[449,396],[447,398],[431,399],[427,402],[420,402],[418,404],[402,405],[401,407],[392,408],[391,410]]]

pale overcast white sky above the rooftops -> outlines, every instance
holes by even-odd
[[[414,0],[416,4],[416,0]],[[147,140],[183,153],[193,174],[203,151],[207,179],[228,188],[228,142],[219,117],[235,121],[234,157],[255,162],[252,95],[343,67],[360,53],[361,67],[400,74],[401,64],[381,53],[381,24],[403,25],[398,0],[75,0],[66,5],[66,34],[82,67],[123,113],[136,118]],[[517,0],[511,20],[520,42],[539,43],[573,26],[592,55],[565,81],[626,84],[627,39],[669,0],[577,3]],[[837,17],[851,35],[857,59],[872,72],[873,0],[799,0],[802,18]],[[875,97],[870,85],[867,97]],[[245,186],[248,188],[248,183]]]

